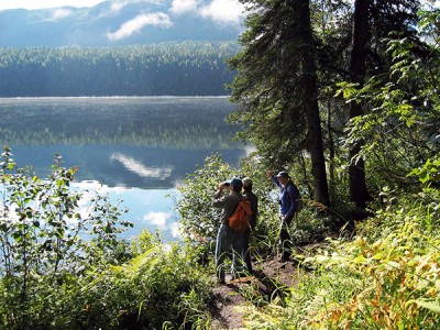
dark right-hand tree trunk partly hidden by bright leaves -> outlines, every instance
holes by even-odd
[[[361,88],[365,79],[366,44],[369,41],[369,7],[371,0],[354,1],[354,21],[352,34],[352,53],[350,59],[351,81],[359,84]],[[350,103],[350,119],[363,116],[364,109],[356,101]],[[365,163],[359,157],[362,141],[358,141],[350,150],[350,199],[358,207],[365,208],[372,200],[366,188]]]

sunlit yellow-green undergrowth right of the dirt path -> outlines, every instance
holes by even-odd
[[[438,191],[428,194],[438,200]],[[360,224],[355,240],[333,242],[331,254],[317,257],[331,273],[342,270],[352,278],[344,304],[333,305],[338,300],[328,296],[326,312],[334,327],[436,329],[440,321],[432,312],[440,298],[439,213],[425,202],[403,205]]]

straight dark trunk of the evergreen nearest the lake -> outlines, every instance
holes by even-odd
[[[315,64],[315,47],[310,23],[310,1],[293,1],[293,9],[297,11],[299,35],[302,37],[301,55],[304,65],[304,107],[308,124],[308,151],[311,158],[311,173],[315,179],[316,201],[330,206],[329,187],[323,157],[321,119],[318,107],[317,67]]]

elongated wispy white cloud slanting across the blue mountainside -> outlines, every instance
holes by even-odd
[[[132,35],[133,33],[140,32],[146,25],[169,28],[173,23],[170,22],[169,16],[163,12],[144,13],[123,23],[118,31],[107,33],[107,36],[110,40],[121,40]]]

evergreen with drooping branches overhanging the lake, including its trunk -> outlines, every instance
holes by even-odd
[[[310,154],[315,199],[330,204],[318,108],[315,44],[308,0],[243,0],[250,15],[243,51],[230,61],[238,75],[231,99],[234,122],[270,165]]]

